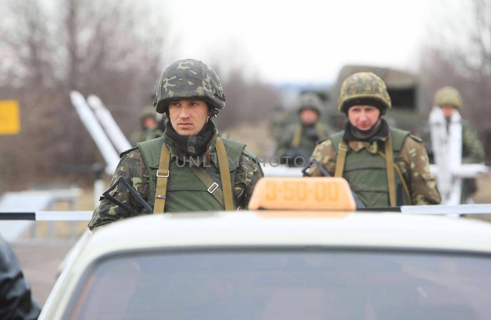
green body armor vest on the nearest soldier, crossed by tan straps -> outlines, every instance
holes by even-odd
[[[239,164],[245,144],[223,139],[225,152],[228,158],[230,183],[234,189],[235,173]],[[153,208],[155,204],[155,187],[157,184],[157,170],[159,169],[160,155],[164,137],[140,142],[137,144],[149,173],[148,204]],[[178,166],[176,161],[169,163],[169,177],[167,180],[167,193],[164,212],[190,212],[190,211],[222,211],[225,208],[208,192],[196,174],[191,170],[189,162]],[[222,188],[220,171],[214,163],[204,168],[208,176]],[[237,199],[233,198],[234,208],[238,208]]]

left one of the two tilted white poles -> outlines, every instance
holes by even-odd
[[[75,110],[77,110],[82,123],[85,125],[85,128],[87,128],[87,131],[90,133],[90,136],[107,163],[106,173],[109,175],[114,174],[114,170],[116,170],[119,163],[118,153],[97,121],[94,113],[90,110],[90,107],[87,105],[82,94],[78,91],[71,91],[70,99],[72,100],[72,104],[75,107]]]

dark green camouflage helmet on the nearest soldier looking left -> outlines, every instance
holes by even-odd
[[[155,110],[164,113],[172,100],[190,98],[202,99],[214,109],[225,107],[225,94],[215,71],[199,60],[177,60],[160,77],[153,100]]]

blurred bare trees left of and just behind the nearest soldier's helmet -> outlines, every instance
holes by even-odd
[[[0,100],[19,101],[22,126],[18,135],[0,136],[0,192],[90,183],[94,175],[67,171],[104,163],[70,90],[98,95],[130,136],[165,65],[188,58],[172,54],[167,21],[159,15],[165,10],[146,1],[5,0],[0,12]],[[273,89],[239,72],[228,78],[224,129],[257,121],[273,108]]]

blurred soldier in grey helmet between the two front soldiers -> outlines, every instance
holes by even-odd
[[[323,109],[324,105],[317,94],[307,92],[300,97],[300,123],[288,127],[277,147],[276,155],[281,163],[303,166],[314,151],[317,141],[332,133],[327,125],[319,122]],[[294,161],[297,157],[305,159],[305,162]]]

